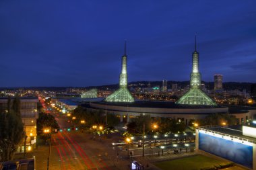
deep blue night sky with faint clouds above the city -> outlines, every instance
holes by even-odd
[[[256,82],[256,1],[0,1],[0,87],[188,81],[197,32],[203,81]]]

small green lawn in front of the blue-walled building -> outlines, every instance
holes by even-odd
[[[198,170],[202,167],[210,167],[212,165],[218,165],[220,163],[224,163],[224,161],[205,157],[203,155],[195,155],[192,157],[174,159],[172,161],[159,162],[155,163],[155,165],[162,170]]]

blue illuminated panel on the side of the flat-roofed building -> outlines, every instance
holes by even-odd
[[[253,146],[199,132],[199,149],[253,168]]]

